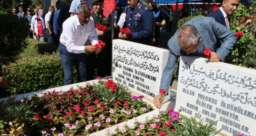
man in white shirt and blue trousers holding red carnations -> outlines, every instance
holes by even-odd
[[[74,63],[78,82],[86,81],[85,51],[99,53],[101,50],[101,47],[94,49],[93,46],[99,40],[91,17],[91,9],[89,4],[81,3],[77,7],[76,16],[69,17],[63,23],[58,51],[64,70],[64,85],[72,84]],[[91,40],[92,45],[84,46],[87,39]]]

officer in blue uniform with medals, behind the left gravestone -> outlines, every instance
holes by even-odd
[[[133,42],[149,45],[149,37],[153,32],[154,15],[150,8],[140,0],[127,0],[129,7],[126,9],[125,22],[122,28],[131,30],[126,36],[119,33],[119,37]]]

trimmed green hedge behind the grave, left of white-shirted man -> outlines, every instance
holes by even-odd
[[[32,39],[28,41],[29,45],[21,53],[20,59],[3,66],[3,73],[9,88],[6,90],[7,94],[1,97],[63,85],[64,72],[57,47]],[[73,81],[75,83],[77,82],[76,75],[76,70],[74,70]]]

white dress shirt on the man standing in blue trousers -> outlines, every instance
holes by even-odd
[[[60,43],[66,46],[67,51],[73,53],[85,53],[85,42],[91,40],[91,44],[98,43],[98,34],[95,30],[95,25],[92,17],[87,24],[82,26],[79,23],[78,17],[69,17],[63,23],[63,32],[60,37]]]

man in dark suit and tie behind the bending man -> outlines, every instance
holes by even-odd
[[[228,16],[236,10],[238,2],[239,0],[223,0],[222,6],[207,17],[213,17],[215,21],[230,29],[230,17]]]

